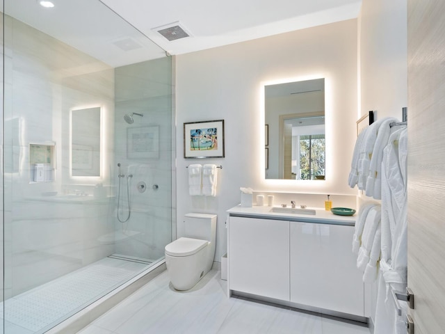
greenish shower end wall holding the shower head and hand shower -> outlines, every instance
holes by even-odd
[[[133,124],[124,115],[133,116]],[[159,134],[146,153],[131,146],[133,134]],[[172,236],[172,59],[156,59],[115,70],[115,164],[131,174],[131,216],[116,224],[115,252],[156,260]],[[117,180],[117,178],[116,178]],[[116,182],[119,182],[118,180]],[[127,179],[121,181],[121,207],[127,205]],[[144,182],[145,191],[138,190]],[[118,184],[116,184],[118,189]],[[127,211],[121,216],[127,218]],[[131,237],[121,238],[122,231]]]

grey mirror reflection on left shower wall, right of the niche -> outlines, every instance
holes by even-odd
[[[71,175],[100,176],[100,107],[71,111]]]

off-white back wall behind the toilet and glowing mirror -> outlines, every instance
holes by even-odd
[[[187,212],[218,214],[216,260],[225,253],[225,211],[240,186],[322,207],[353,198],[347,185],[357,119],[357,20],[177,56],[177,223]],[[325,78],[327,173],[324,182],[264,180],[264,84]],[[184,159],[183,124],[225,120],[225,158]],[[269,134],[273,136],[274,134]],[[275,134],[277,135],[277,134]],[[221,164],[216,198],[188,196],[188,164]],[[296,193],[285,196],[281,192]],[[305,193],[316,195],[302,195]],[[280,199],[277,199],[280,200]],[[337,200],[337,201],[336,201]]]

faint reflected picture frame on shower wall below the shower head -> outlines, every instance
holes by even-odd
[[[159,126],[128,127],[127,157],[129,159],[159,158]]]

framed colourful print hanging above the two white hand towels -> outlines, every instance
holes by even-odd
[[[223,158],[224,120],[184,123],[184,158]]]

